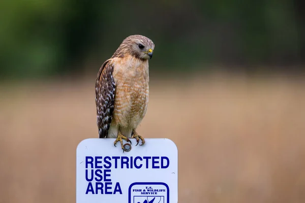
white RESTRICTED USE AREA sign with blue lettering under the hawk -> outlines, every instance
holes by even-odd
[[[145,139],[125,151],[115,139],[87,139],[76,150],[77,203],[177,203],[178,151],[168,139]],[[141,141],[140,141],[141,142]]]

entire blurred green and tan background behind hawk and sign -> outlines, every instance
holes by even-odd
[[[2,1],[0,202],[75,202],[95,79],[154,41],[138,132],[179,153],[179,202],[305,202],[304,1]]]

